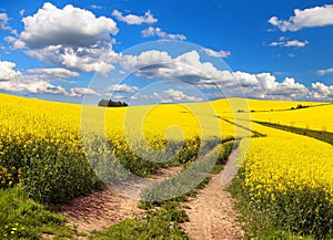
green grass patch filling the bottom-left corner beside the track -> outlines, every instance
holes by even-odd
[[[28,198],[19,186],[0,190],[0,239],[75,239],[79,233],[67,219]]]

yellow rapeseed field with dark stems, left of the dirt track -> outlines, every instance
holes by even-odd
[[[42,201],[99,188],[89,164],[121,178],[122,173],[104,173],[110,163],[101,156],[113,154],[131,171],[147,176],[164,166],[155,161],[168,144],[168,159],[179,154],[175,160],[188,163],[212,138],[250,136],[222,121],[211,103],[104,108],[0,94],[0,108],[1,186],[22,181]]]

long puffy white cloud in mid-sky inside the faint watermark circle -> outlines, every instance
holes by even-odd
[[[167,52],[147,51],[140,55],[124,55],[121,66],[145,79],[181,81],[190,84],[231,82],[228,73],[219,71],[211,62],[202,63],[200,54],[191,51],[172,59]]]

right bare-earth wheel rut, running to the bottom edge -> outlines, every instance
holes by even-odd
[[[239,212],[233,208],[235,199],[225,190],[236,173],[236,157],[238,150],[233,150],[224,170],[213,175],[209,185],[185,202],[190,207],[186,210],[190,221],[183,225],[183,229],[191,239],[243,239],[244,231],[236,219]]]

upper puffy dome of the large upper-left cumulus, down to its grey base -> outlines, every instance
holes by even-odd
[[[117,34],[118,28],[112,19],[97,18],[92,12],[73,6],[58,9],[44,3],[33,15],[22,19],[24,31],[20,41],[29,49],[49,45],[92,46],[99,41],[110,41],[110,33]]]

